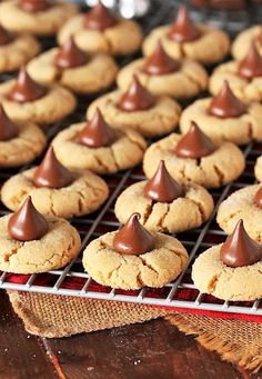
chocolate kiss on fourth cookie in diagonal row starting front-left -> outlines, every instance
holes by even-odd
[[[125,112],[147,110],[155,104],[154,97],[133,76],[133,80],[118,103],[118,107]]]

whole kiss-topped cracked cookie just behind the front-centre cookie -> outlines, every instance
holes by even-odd
[[[117,219],[124,223],[133,212],[149,230],[178,233],[200,227],[213,211],[213,199],[201,186],[179,186],[161,162],[151,180],[128,187],[115,202]]]

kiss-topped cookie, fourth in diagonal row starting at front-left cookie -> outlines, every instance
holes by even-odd
[[[134,77],[127,92],[117,90],[94,100],[87,111],[99,108],[114,128],[137,130],[144,137],[167,134],[178,127],[181,108],[169,97],[153,97]]]

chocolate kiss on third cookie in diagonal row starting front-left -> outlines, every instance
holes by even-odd
[[[102,148],[110,146],[115,140],[115,133],[110,126],[104,121],[104,118],[99,109],[79,134],[79,142],[89,148]]]

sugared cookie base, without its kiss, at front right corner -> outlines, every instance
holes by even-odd
[[[262,297],[262,261],[232,268],[220,260],[222,245],[201,253],[192,268],[195,287],[223,300],[248,301]]]

